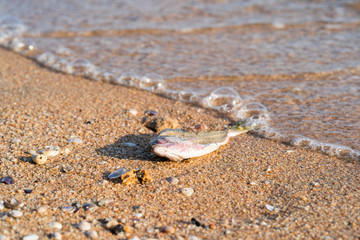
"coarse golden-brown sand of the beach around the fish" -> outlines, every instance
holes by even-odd
[[[47,239],[60,222],[63,239],[86,239],[76,224],[86,219],[99,239],[356,239],[360,237],[359,164],[242,135],[218,151],[181,163],[150,153],[154,134],[141,124],[156,110],[182,127],[228,124],[216,113],[135,89],[54,73],[0,49],[0,201],[16,198],[20,218],[0,210],[0,235]],[[129,109],[138,110],[134,116]],[[90,121],[90,123],[88,122]],[[71,136],[83,144],[69,144]],[[14,141],[20,140],[20,142]],[[132,142],[137,147],[121,143]],[[27,151],[69,148],[67,155],[35,165]],[[67,173],[63,167],[72,167]],[[107,180],[119,167],[150,171],[152,181],[124,186]],[[177,185],[166,181],[177,177]],[[191,187],[190,197],[179,192]],[[24,189],[33,189],[25,194]],[[62,206],[109,199],[93,212],[64,213]],[[274,206],[268,210],[266,204]],[[134,216],[141,206],[143,216]],[[47,207],[44,214],[37,209]],[[113,235],[101,219],[113,218],[132,233]],[[211,228],[191,224],[198,219]],[[171,226],[174,233],[163,233]],[[129,232],[129,231],[128,231]]]

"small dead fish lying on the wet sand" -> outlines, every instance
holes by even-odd
[[[160,157],[180,162],[203,156],[229,142],[231,137],[251,130],[244,122],[222,131],[185,132],[183,129],[165,129],[151,142],[151,151]]]

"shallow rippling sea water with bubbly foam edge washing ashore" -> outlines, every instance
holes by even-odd
[[[357,1],[0,1],[0,44],[50,68],[360,156]],[[219,89],[220,88],[220,89]]]

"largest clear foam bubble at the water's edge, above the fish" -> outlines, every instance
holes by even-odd
[[[243,100],[240,95],[231,88],[222,87],[213,91],[208,97],[204,98],[205,107],[216,109],[220,112],[231,112],[241,106]]]

